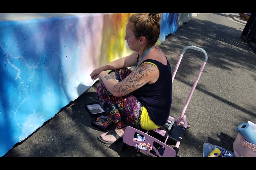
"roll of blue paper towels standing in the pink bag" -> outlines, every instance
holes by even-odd
[[[248,123],[239,125],[237,131],[245,138],[247,142],[256,145],[256,133]]]

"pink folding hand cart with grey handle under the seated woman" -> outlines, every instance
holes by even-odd
[[[172,83],[181,59],[184,53],[189,49],[203,53],[204,58],[180,117],[176,119],[169,116],[164,126],[154,130],[139,130],[127,126],[123,135],[123,140],[119,145],[119,152],[121,152],[125,144],[127,144],[137,148],[137,151],[141,150],[150,156],[177,156],[182,138],[187,134],[187,131],[190,128],[190,125],[186,121],[185,111],[208,59],[207,53],[202,48],[192,45],[183,48],[171,77]],[[173,145],[174,147],[170,147],[169,145]]]

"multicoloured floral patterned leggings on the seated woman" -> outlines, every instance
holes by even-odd
[[[117,69],[115,70],[115,79],[122,81],[130,73],[131,70],[127,68]],[[99,103],[116,124],[118,129],[126,127],[125,118],[137,128],[141,128],[140,124],[143,105],[135,96],[128,94],[122,97],[115,97],[106,89],[103,83],[99,84],[96,92],[99,98]]]

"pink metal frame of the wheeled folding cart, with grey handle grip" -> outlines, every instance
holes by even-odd
[[[123,135],[123,141],[121,142],[121,144],[119,146],[119,151],[122,150],[123,143],[126,143],[129,146],[137,147],[138,148],[137,151],[141,150],[141,151],[145,152],[146,154],[148,154],[150,156],[177,156],[182,137],[184,135],[186,135],[187,130],[190,127],[190,125],[187,124],[186,115],[184,115],[184,114],[185,114],[185,111],[186,111],[187,106],[189,104],[189,101],[190,101],[190,99],[191,99],[191,97],[194,93],[195,87],[197,86],[198,80],[199,80],[199,78],[202,74],[202,71],[203,71],[203,69],[206,65],[206,62],[208,60],[207,53],[202,48],[199,48],[197,46],[192,46],[192,45],[183,48],[183,50],[181,51],[181,53],[179,55],[177,64],[176,64],[175,69],[174,69],[173,74],[172,74],[172,83],[173,83],[174,77],[177,73],[179,64],[182,60],[182,57],[183,57],[184,53],[189,49],[193,49],[193,50],[202,52],[204,54],[203,63],[201,65],[201,68],[199,69],[199,72],[198,72],[197,77],[194,81],[194,84],[193,84],[192,89],[189,93],[187,101],[186,101],[186,103],[183,107],[183,110],[180,114],[179,119],[176,119],[176,118],[173,118],[173,117],[169,116],[169,119],[167,120],[167,123],[166,123],[167,127],[165,127],[164,130],[161,130],[160,128],[153,130],[155,133],[165,137],[165,142],[161,142],[158,139],[148,135],[149,130],[147,130],[146,133],[144,133],[144,132],[142,132],[138,129],[132,128],[131,126],[127,126],[126,129],[125,129],[125,133]],[[170,135],[169,135],[170,132],[168,134],[166,134],[166,132],[170,131],[170,129],[175,130],[173,128],[174,127],[174,122],[173,121],[175,121],[175,123],[176,123],[175,126],[176,127],[181,127],[181,128],[178,128],[178,129],[175,128],[175,129],[177,129],[177,130],[181,129],[181,131],[183,133],[181,135],[182,137],[179,136],[178,137],[179,139],[177,141],[176,140],[174,141],[174,143],[175,143],[174,148],[166,145],[167,140],[170,138]],[[144,136],[145,140],[142,140],[142,141],[134,140],[135,134],[139,134],[139,135]],[[143,147],[143,146],[145,146],[146,144],[153,144],[153,145],[151,145],[151,150],[153,149],[153,152],[150,152],[149,149],[148,150],[144,149],[145,147]],[[157,145],[155,145],[155,144],[157,144]],[[141,147],[138,147],[138,146],[141,146]],[[156,146],[158,146],[158,148]]]

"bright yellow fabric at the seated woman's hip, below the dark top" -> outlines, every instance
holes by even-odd
[[[154,130],[158,129],[161,126],[157,126],[150,118],[149,114],[147,113],[147,109],[143,106],[142,113],[141,113],[141,128],[145,130]]]

